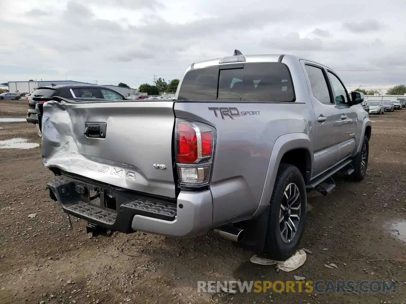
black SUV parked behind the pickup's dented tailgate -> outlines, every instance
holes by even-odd
[[[126,97],[119,92],[96,85],[61,85],[61,86],[44,86],[39,87],[34,93],[28,97],[28,112],[27,121],[32,124],[38,124],[41,129],[41,117],[37,116],[35,107],[38,104],[39,112],[42,113],[42,104],[50,101],[52,97],[59,96],[74,101],[101,101],[109,100],[127,100]]]

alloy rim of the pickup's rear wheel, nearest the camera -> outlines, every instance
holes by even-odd
[[[299,227],[302,200],[299,188],[290,183],[283,192],[281,208],[279,210],[279,229],[283,242],[293,240]]]

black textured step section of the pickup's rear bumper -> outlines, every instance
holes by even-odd
[[[177,214],[175,203],[101,188],[64,176],[48,182],[47,188],[66,213],[123,233],[134,232],[131,224],[136,214],[164,221],[174,221]],[[90,200],[91,191],[98,191],[99,199]]]

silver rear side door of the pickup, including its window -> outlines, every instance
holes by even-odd
[[[341,117],[332,98],[324,67],[301,60],[309,83],[309,94],[316,118],[315,169],[313,176],[335,165],[339,160]]]

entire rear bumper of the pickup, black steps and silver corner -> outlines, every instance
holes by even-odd
[[[181,191],[171,201],[117,191],[70,176],[58,176],[47,188],[66,213],[112,231],[192,238],[207,233],[212,225],[213,202],[209,190]],[[96,191],[99,197],[91,201],[89,197]]]

